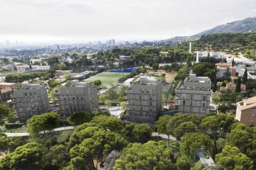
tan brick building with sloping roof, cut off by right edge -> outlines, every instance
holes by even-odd
[[[256,126],[256,97],[243,99],[236,103],[236,120],[243,123],[245,126],[251,127]]]

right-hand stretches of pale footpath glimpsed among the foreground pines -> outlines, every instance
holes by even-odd
[[[159,136],[162,137],[164,139],[168,139],[168,136],[166,134],[158,134],[158,133],[152,133],[153,137]],[[175,137],[170,135],[170,140],[179,142],[179,140],[177,140]],[[204,167],[208,168],[213,168],[213,169],[219,169],[219,166],[214,163],[213,159],[210,157],[209,159],[204,158],[204,154],[202,152],[198,152],[197,156],[200,158],[202,164],[204,165]]]

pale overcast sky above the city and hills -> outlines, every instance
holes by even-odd
[[[0,41],[161,40],[256,16],[255,0],[1,0]]]

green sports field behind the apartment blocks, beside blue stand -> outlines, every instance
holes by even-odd
[[[128,75],[130,73],[124,73],[125,75]],[[96,75],[93,78],[86,79],[85,82],[91,82],[95,80],[100,80],[102,82],[103,86],[110,87],[110,83],[118,81],[119,78],[123,77],[123,73],[115,73],[115,72],[104,72],[99,75]]]

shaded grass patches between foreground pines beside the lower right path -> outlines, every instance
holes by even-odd
[[[166,147],[168,149],[170,149],[170,151],[174,154],[174,155],[177,155],[177,156],[181,156],[182,155],[182,152],[180,151],[180,143],[179,142],[175,142],[175,141],[172,141],[170,140],[169,142],[169,147],[168,147],[168,139],[163,139],[165,144],[166,144]],[[201,166],[203,165],[200,158],[196,155],[196,161],[195,161],[195,166]]]

